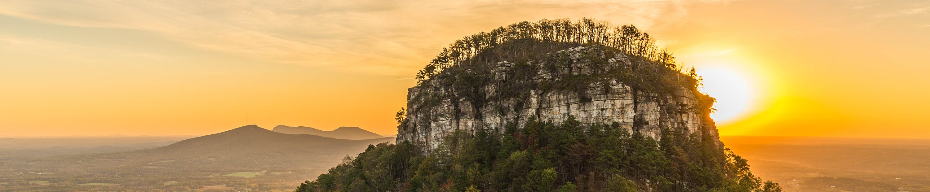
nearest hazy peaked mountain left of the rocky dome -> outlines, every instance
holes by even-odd
[[[386,142],[391,143],[392,138],[350,140],[312,134],[283,134],[246,125],[219,134],[182,140],[166,147],[125,154],[150,159],[213,159],[223,166],[237,167],[251,167],[256,163],[275,167],[310,167],[336,164],[347,155],[364,151],[368,145]]]

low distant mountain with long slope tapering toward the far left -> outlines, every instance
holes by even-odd
[[[60,156],[39,164],[67,166],[152,165],[177,170],[270,169],[311,167],[323,169],[356,155],[368,145],[392,143],[392,137],[352,140],[312,134],[283,134],[246,125],[219,134],[185,139],[150,149],[126,152]],[[61,161],[58,161],[61,160]],[[70,165],[69,165],[70,164]]]

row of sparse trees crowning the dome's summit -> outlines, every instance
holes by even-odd
[[[488,70],[485,63],[500,60],[542,60],[545,54],[578,45],[597,45],[632,58],[634,68],[653,64],[675,71],[682,66],[674,57],[656,45],[649,33],[633,25],[612,26],[606,21],[580,19],[541,19],[523,21],[491,32],[479,32],[462,37],[443,48],[436,58],[417,73],[418,83],[430,80],[444,70],[460,67]],[[635,70],[635,69],[634,69]],[[694,71],[687,71],[694,76]]]

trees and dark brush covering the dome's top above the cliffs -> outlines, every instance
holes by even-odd
[[[589,98],[586,93],[591,84],[608,86],[611,81],[660,96],[671,95],[683,87],[697,94],[701,77],[695,69],[684,70],[655,42],[635,26],[613,27],[593,19],[524,21],[480,32],[444,48],[419,70],[419,91],[412,93],[413,100],[418,102],[409,106],[408,112],[429,109],[445,99],[453,103],[466,99],[476,108],[512,98],[526,100],[530,90],[536,93],[570,90],[585,100]],[[579,58],[570,58],[564,51],[578,46],[587,47]],[[624,62],[613,60],[615,56],[623,56],[629,63],[621,64]],[[500,72],[496,70],[500,61],[512,63],[503,82],[495,78]],[[571,66],[578,66],[573,62],[584,62],[583,65],[595,71],[571,72]],[[540,73],[550,74],[551,78],[538,81]],[[483,87],[489,85],[499,87],[498,93],[487,93]],[[442,94],[449,93],[447,90],[454,94]],[[710,108],[712,102],[702,100],[700,104]]]

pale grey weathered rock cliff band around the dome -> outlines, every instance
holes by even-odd
[[[717,130],[709,116],[710,96],[696,93],[684,85],[671,93],[638,91],[616,78],[606,77],[606,71],[631,69],[633,62],[623,54],[605,57],[594,47],[574,47],[553,55],[564,62],[529,61],[535,65],[535,83],[566,81],[571,76],[587,76],[598,81],[582,84],[582,89],[530,89],[519,96],[502,96],[504,84],[525,81],[512,78],[515,64],[500,61],[485,82],[476,88],[477,95],[466,95],[461,87],[444,86],[434,79],[408,89],[406,121],[398,128],[397,142],[411,141],[431,151],[443,137],[456,130],[473,133],[484,126],[500,128],[508,122],[522,127],[527,120],[562,122],[574,116],[583,124],[618,122],[631,131],[658,139],[661,130],[712,134]],[[554,65],[553,65],[554,64]],[[521,68],[525,70],[527,68]],[[442,77],[440,74],[439,77]],[[582,91],[578,91],[582,90]],[[474,99],[468,96],[482,96]],[[480,103],[475,101],[479,100]],[[719,140],[718,140],[719,142]],[[722,144],[721,144],[722,145]]]

